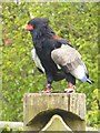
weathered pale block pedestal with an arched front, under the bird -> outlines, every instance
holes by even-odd
[[[27,93],[24,131],[86,131],[86,95],[82,93]]]

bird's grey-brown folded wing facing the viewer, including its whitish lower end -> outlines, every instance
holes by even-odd
[[[61,48],[51,52],[51,58],[56,64],[67,68],[66,72],[71,73],[82,82],[87,81],[87,68],[81,60],[80,53],[74,48],[62,44]]]

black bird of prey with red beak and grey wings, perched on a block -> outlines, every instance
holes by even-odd
[[[68,82],[64,89],[67,93],[76,92],[76,79],[93,83],[81,54],[68,40],[56,34],[48,18],[33,18],[24,29],[30,31],[33,41],[31,55],[36,66],[47,78],[47,85],[42,92],[51,93],[52,82],[63,79]]]

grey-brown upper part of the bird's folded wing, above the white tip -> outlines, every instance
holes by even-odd
[[[56,64],[67,65],[68,70],[73,70],[81,63],[80,53],[69,45],[63,45],[51,52],[51,58]]]

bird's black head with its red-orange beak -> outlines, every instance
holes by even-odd
[[[34,29],[42,27],[42,25],[48,25],[49,20],[48,18],[34,18],[28,22],[24,29],[29,31],[33,31]]]

